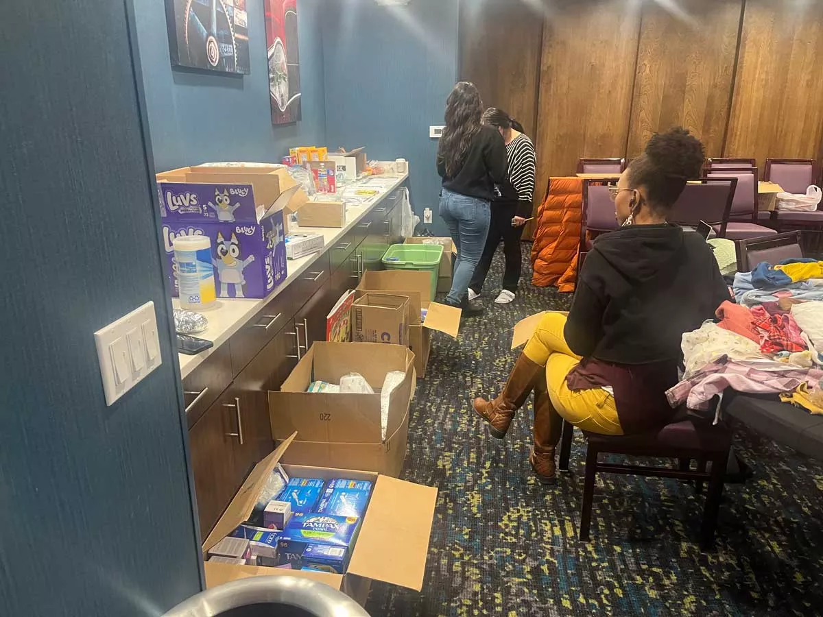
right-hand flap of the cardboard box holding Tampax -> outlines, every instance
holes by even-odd
[[[421,591],[437,489],[379,476],[348,573]]]

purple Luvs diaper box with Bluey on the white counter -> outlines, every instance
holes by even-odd
[[[166,273],[179,293],[174,239],[212,241],[219,298],[265,298],[286,280],[283,209],[307,197],[282,165],[201,165],[157,174]]]

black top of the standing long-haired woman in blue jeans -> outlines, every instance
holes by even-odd
[[[495,197],[495,185],[508,178],[509,162],[506,144],[496,128],[483,125],[474,136],[466,161],[457,174],[446,174],[446,164],[437,153],[437,173],[443,179],[443,188],[453,193],[477,197],[491,202]]]

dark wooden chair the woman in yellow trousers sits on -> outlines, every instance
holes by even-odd
[[[683,417],[685,413],[679,416],[679,420],[676,419],[662,429],[644,434],[608,436],[584,431],[587,446],[583,508],[580,513],[580,540],[585,542],[589,539],[594,480],[599,472],[693,480],[698,492],[703,482],[708,480],[709,490],[703,509],[700,545],[704,550],[711,548],[714,544],[720,500],[723,497],[723,479],[729,451],[732,448],[732,434],[724,424],[714,426],[710,420],[683,420]],[[564,422],[563,442],[560,447],[560,469],[563,471],[569,470],[569,452],[573,431],[574,426]],[[677,461],[677,466],[668,468],[600,462],[598,460],[600,454],[671,458]],[[695,471],[690,469],[692,460],[698,461]],[[711,462],[710,471],[706,471],[707,462]]]

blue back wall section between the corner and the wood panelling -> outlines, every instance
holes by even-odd
[[[412,204],[437,215],[437,141],[446,97],[458,74],[458,0],[412,0],[380,7],[374,0],[333,0],[323,20],[326,137],[330,148],[365,146],[371,159],[403,157]]]

